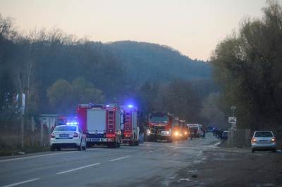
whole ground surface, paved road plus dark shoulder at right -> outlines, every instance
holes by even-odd
[[[0,158],[1,186],[281,186],[282,153],[207,138]]]

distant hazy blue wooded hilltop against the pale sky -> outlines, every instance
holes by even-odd
[[[107,45],[121,59],[130,79],[138,82],[212,78],[209,63],[192,60],[169,46],[137,41],[116,41]]]

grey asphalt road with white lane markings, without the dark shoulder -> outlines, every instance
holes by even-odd
[[[181,169],[203,162],[214,141],[207,134],[192,141],[2,157],[0,186],[168,186]]]

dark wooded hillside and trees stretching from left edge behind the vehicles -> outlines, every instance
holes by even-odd
[[[212,103],[219,88],[212,65],[168,46],[78,39],[62,30],[19,32],[0,16],[0,119],[17,119],[17,93],[26,117],[75,114],[79,103],[134,103],[144,114],[173,112],[187,122],[225,123]],[[211,115],[213,114],[214,115]]]

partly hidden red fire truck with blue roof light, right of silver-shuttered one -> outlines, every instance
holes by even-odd
[[[123,105],[121,108],[123,110],[123,125],[121,126],[122,143],[128,143],[129,146],[138,146],[138,109],[133,105]]]

